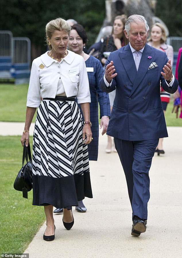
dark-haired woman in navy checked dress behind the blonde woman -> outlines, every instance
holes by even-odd
[[[97,58],[84,53],[83,47],[86,43],[87,34],[83,26],[80,24],[73,24],[73,26],[71,27],[71,32],[69,34],[68,48],[69,50],[82,56],[82,59],[85,61],[86,64],[91,97],[90,121],[92,121],[93,137],[93,141],[88,145],[88,156],[89,160],[97,160],[99,136],[98,103],[100,106],[100,128],[103,127],[102,135],[107,131],[110,117],[110,103],[108,93],[103,92],[99,86],[99,81],[103,74],[102,64]],[[84,206],[82,201],[78,202],[76,210],[78,212],[86,212],[86,207]],[[58,212],[60,213],[61,210],[59,209]]]

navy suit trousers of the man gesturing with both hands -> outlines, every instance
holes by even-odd
[[[149,170],[159,139],[126,141],[114,138],[125,177],[134,215],[147,219],[147,203],[150,198]]]

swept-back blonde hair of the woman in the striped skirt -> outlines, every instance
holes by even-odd
[[[49,45],[48,38],[51,39],[55,30],[60,30],[60,31],[64,30],[69,35],[69,33],[71,31],[71,26],[69,25],[69,23],[66,20],[64,20],[62,18],[57,18],[57,19],[51,20],[50,22],[47,23],[47,25],[46,25],[46,42],[47,42],[47,45],[50,50],[52,49],[52,46]]]

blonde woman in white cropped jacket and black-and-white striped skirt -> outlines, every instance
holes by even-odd
[[[67,50],[70,30],[61,18],[46,25],[50,50],[32,62],[21,138],[22,146],[28,146],[30,124],[38,108],[32,151],[33,205],[44,206],[46,241],[55,238],[53,206],[64,208],[63,224],[70,230],[72,206],[78,206],[85,196],[92,198],[87,148],[92,141],[89,83],[83,58]]]

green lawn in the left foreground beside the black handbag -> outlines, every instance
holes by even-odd
[[[32,206],[32,190],[25,199],[13,188],[22,167],[22,152],[20,136],[0,136],[1,253],[24,253],[45,221],[44,208]]]

